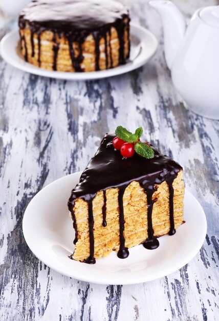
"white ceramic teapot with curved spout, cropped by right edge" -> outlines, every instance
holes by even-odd
[[[170,1],[150,1],[162,19],[164,52],[172,82],[188,107],[219,119],[219,6],[195,11],[186,21]]]

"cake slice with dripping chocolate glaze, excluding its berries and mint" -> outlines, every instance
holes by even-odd
[[[69,199],[76,234],[72,258],[81,262],[94,264],[113,250],[125,258],[139,244],[156,249],[157,237],[173,235],[183,222],[182,167],[149,144],[152,158],[137,152],[125,158],[114,138],[105,135]]]

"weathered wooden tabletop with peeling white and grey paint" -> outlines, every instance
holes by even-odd
[[[163,54],[158,14],[147,1],[126,1],[133,21],[159,39],[143,68],[117,77],[66,82],[34,76],[0,58],[1,320],[218,320],[219,122],[185,109]],[[187,15],[215,1],[176,1]],[[3,36],[12,25],[3,26]],[[145,138],[184,167],[202,204],[206,241],[179,271],[132,286],[80,282],[43,265],[21,229],[31,198],[45,185],[83,170],[101,137],[118,125]],[[195,227],[194,227],[195,233]]]

